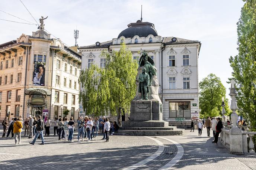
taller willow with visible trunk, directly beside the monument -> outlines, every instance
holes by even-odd
[[[131,100],[136,95],[136,77],[138,64],[132,59],[132,53],[124,43],[119,51],[102,52],[106,58],[106,75],[109,81],[110,98],[109,111],[112,115],[118,115],[119,124],[122,115],[130,112]]]

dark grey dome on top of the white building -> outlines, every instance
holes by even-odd
[[[125,38],[132,38],[135,35],[139,37],[147,37],[148,35],[157,36],[157,31],[154,28],[153,23],[141,22],[141,20],[138,20],[136,23],[128,24],[128,28],[123,30],[118,35],[118,38],[121,36],[124,36]]]

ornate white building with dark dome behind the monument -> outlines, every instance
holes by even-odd
[[[170,125],[190,125],[191,118],[199,118],[198,56],[201,43],[177,37],[161,37],[153,23],[128,24],[117,38],[95,45],[81,46],[81,69],[95,63],[104,67],[102,50],[119,50],[125,42],[133,59],[138,60],[141,49],[148,52],[157,68],[159,97],[163,102],[163,120]],[[128,115],[125,120],[127,120]],[[124,117],[122,118],[124,121]]]

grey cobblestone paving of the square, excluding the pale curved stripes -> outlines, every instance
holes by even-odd
[[[0,135],[3,130],[0,127]],[[52,134],[52,131],[51,131]],[[212,134],[211,134],[212,135]],[[182,170],[216,170],[216,169],[253,169],[256,170],[256,155],[237,156],[229,154],[221,144],[212,144],[212,137],[197,135],[197,131],[185,131],[183,136],[140,137],[110,136],[108,143],[103,142],[102,135],[90,142],[74,143],[58,140],[57,136],[45,137],[45,145],[30,145],[31,139],[22,137],[22,144],[15,145],[14,139],[0,138],[0,170],[9,169],[125,169],[140,163],[159,150],[163,152],[151,161],[141,164],[137,169],[156,170],[170,160],[175,159],[177,147],[172,142],[181,144],[182,158],[168,169]],[[164,139],[166,138],[166,139]],[[156,142],[156,140],[158,142]]]

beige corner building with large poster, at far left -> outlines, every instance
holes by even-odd
[[[81,55],[40,29],[0,45],[0,120],[78,117]]]

